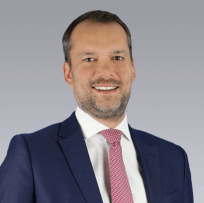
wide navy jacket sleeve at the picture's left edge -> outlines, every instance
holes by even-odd
[[[12,138],[7,156],[0,167],[0,202],[35,202],[29,151],[21,135]]]

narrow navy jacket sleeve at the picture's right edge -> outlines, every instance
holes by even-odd
[[[188,163],[188,157],[187,157],[186,152],[183,149],[182,149],[182,152],[184,155],[184,164],[185,164],[184,202],[193,203],[193,189],[192,189],[191,173],[190,173],[190,168],[189,168],[189,163]]]

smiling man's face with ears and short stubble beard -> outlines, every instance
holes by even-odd
[[[127,36],[118,23],[83,21],[71,34],[71,69],[66,82],[78,106],[92,117],[117,120],[124,115],[135,79]]]

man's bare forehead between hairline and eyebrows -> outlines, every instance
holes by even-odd
[[[116,23],[95,23],[83,21],[73,30],[71,37],[72,49],[76,47],[87,48],[115,48],[128,49],[127,35],[123,27]],[[120,47],[117,47],[120,46]]]

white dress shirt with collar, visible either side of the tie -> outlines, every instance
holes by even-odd
[[[109,174],[110,144],[100,134],[100,131],[109,128],[96,121],[78,106],[75,115],[82,129],[102,200],[104,203],[111,203]],[[139,172],[136,150],[128,128],[127,115],[125,115],[123,121],[115,129],[123,132],[121,136],[122,156],[134,202],[147,203],[143,179]]]

